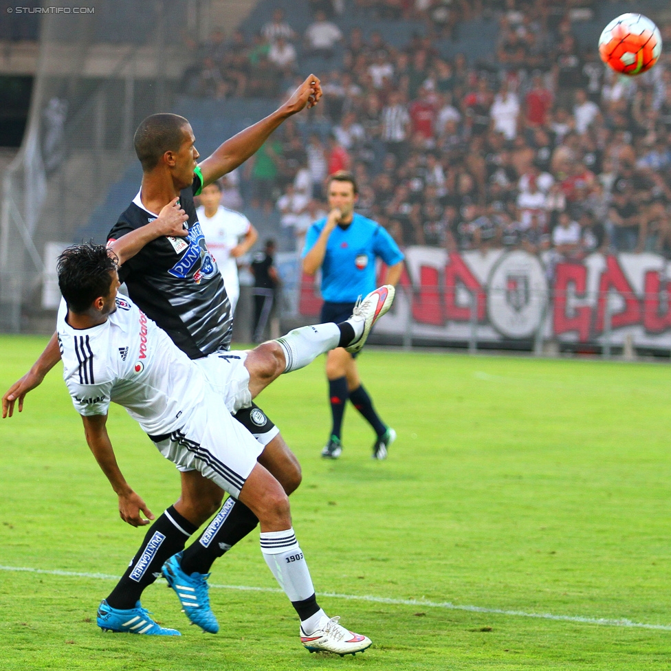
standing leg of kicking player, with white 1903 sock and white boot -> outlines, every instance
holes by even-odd
[[[289,498],[276,479],[257,464],[241,489],[239,500],[261,522],[261,552],[278,584],[300,618],[300,641],[310,652],[355,654],[371,639],[355,634],[330,618],[317,603],[305,561],[292,527]]]

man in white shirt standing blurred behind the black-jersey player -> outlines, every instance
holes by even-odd
[[[201,206],[196,210],[198,221],[208,249],[217,259],[233,314],[240,297],[236,259],[252,248],[259,234],[244,214],[219,204],[221,186],[218,182],[203,188],[200,201]]]

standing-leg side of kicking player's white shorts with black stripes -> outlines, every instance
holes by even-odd
[[[153,441],[178,470],[197,470],[235,498],[264,447],[214,394],[206,395],[182,428]]]

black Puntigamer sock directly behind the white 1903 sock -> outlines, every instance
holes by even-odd
[[[259,524],[259,518],[239,500],[230,496],[200,538],[184,550],[181,570],[186,575],[210,573],[214,560],[228,552]]]

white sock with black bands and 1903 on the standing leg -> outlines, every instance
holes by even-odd
[[[261,552],[289,601],[305,601],[314,594],[310,571],[293,528],[261,531]]]

